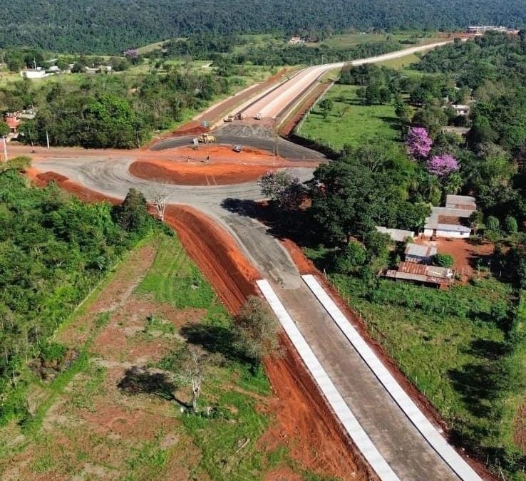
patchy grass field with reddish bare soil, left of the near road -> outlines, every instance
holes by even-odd
[[[170,398],[190,399],[188,386],[163,374],[172,352],[190,332],[194,342],[201,336],[227,349],[231,322],[177,237],[150,238],[58,331],[56,341],[80,351],[78,360],[51,382],[28,369],[35,414],[0,429],[0,478],[241,481],[282,466],[303,473],[285,443],[259,445],[274,419],[262,368],[232,356],[214,366],[200,398],[210,416],[182,413]],[[156,371],[123,391],[130,366]]]

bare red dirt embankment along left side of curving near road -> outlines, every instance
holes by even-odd
[[[28,173],[39,185],[45,185],[46,180],[53,180],[64,190],[84,200],[105,198],[53,172],[39,175],[33,170]],[[105,200],[119,202],[115,199]],[[257,294],[254,281],[260,276],[239,251],[230,234],[205,214],[190,207],[167,206],[165,222],[177,231],[187,253],[200,267],[227,309],[237,314],[246,297]],[[377,480],[336,422],[334,414],[283,333],[281,341],[283,355],[268,358],[264,362],[272,390],[277,395],[271,410],[277,422],[259,441],[262,449],[273,450],[285,443],[301,467],[342,480]]]

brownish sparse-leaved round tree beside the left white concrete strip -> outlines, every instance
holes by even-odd
[[[260,362],[277,351],[279,324],[264,301],[249,296],[234,322],[234,346],[237,350]]]

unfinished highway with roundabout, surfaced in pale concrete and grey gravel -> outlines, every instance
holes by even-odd
[[[388,60],[443,43],[352,63]],[[213,132],[217,143],[242,144],[268,152],[278,145],[279,155],[289,161],[286,168],[301,180],[309,180],[316,165],[328,161],[326,157],[288,140],[277,140],[268,125],[286,118],[321,76],[343,65],[305,68],[238,105],[230,113],[242,113],[247,120],[218,126]],[[261,121],[254,120],[258,114]],[[167,155],[190,141],[191,137],[166,138],[152,145],[148,153]],[[130,165],[134,161],[134,151],[110,154],[100,151],[98,155],[89,155],[78,150],[75,155],[67,152],[58,155],[50,150],[36,157],[33,167],[40,172],[56,172],[86,189],[117,199],[125,197],[130,187],[141,190],[150,200],[162,189],[169,204],[191,206],[206,214],[230,234],[264,277],[266,283],[258,282],[259,291],[277,314],[334,415],[379,478],[480,479],[465,457],[447,443],[438,427],[371,354],[365,341],[350,330],[352,320],[334,310],[331,296],[323,286],[302,277],[282,243],[239,208],[243,201],[261,198],[255,180],[210,187],[161,183],[132,175]]]

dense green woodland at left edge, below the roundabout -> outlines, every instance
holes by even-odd
[[[55,185],[30,187],[15,166],[0,173],[0,424],[25,415],[21,368],[62,356],[49,336],[155,221],[130,191],[122,207],[84,204]]]

